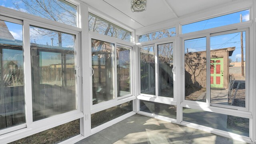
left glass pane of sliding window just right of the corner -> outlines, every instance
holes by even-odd
[[[156,95],[154,46],[140,48],[140,93]]]

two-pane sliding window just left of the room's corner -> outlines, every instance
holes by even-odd
[[[92,39],[92,104],[132,96],[131,50]]]

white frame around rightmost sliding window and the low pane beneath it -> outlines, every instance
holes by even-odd
[[[236,107],[236,109],[232,109],[232,106],[223,106],[223,105],[216,105],[216,104],[211,104],[210,103],[210,36],[214,36],[214,35],[222,35],[222,34],[226,34],[226,33],[233,33],[233,32],[242,32],[246,30],[246,61],[248,61],[246,63],[247,67],[246,67],[246,98],[247,98],[247,107],[246,108],[239,108]],[[206,102],[197,102],[197,101],[191,101],[191,100],[185,100],[185,87],[184,87],[184,40],[189,40],[189,39],[194,39],[194,38],[202,38],[202,37],[206,37],[206,66],[208,69],[206,69],[206,76],[207,76],[207,85],[206,85]],[[249,137],[247,136],[241,136],[239,134],[233,134],[230,132],[226,132],[226,131],[222,131],[222,130],[218,130],[215,128],[209,128],[206,126],[201,126],[198,124],[193,124],[193,123],[189,123],[189,122],[184,122],[182,121],[182,111],[181,111],[181,123],[184,126],[190,126],[192,128],[197,128],[200,130],[204,130],[204,131],[209,131],[212,132],[214,134],[219,134],[219,135],[223,135],[226,137],[230,137],[230,138],[234,138],[236,140],[244,140],[246,142],[250,142],[252,139],[252,136],[254,134],[253,131],[253,93],[252,93],[252,89],[253,89],[253,84],[252,84],[252,80],[249,81],[249,77],[253,77],[253,71],[252,69],[249,69],[249,67],[253,67],[252,63],[253,61],[253,48],[252,48],[252,20],[248,21],[248,22],[242,22],[242,23],[237,23],[237,24],[231,24],[231,25],[227,25],[227,26],[221,26],[221,27],[217,27],[217,28],[211,28],[211,29],[207,29],[207,30],[202,30],[202,31],[198,31],[198,32],[191,32],[191,33],[187,33],[187,34],[181,34],[180,35],[180,39],[181,39],[181,56],[180,56],[180,61],[182,62],[181,66],[182,66],[182,75],[181,75],[181,79],[182,79],[182,85],[181,85],[181,92],[182,92],[182,98],[181,98],[181,103],[180,103],[180,108],[182,110],[182,107],[186,107],[186,108],[193,108],[193,109],[197,109],[197,110],[204,110],[204,111],[208,111],[208,112],[215,112],[215,113],[220,113],[220,114],[226,114],[226,115],[231,115],[231,116],[238,116],[238,117],[242,117],[242,118],[249,118]],[[250,51],[250,52],[249,52]],[[250,95],[250,96],[249,96]],[[221,107],[219,107],[221,106]],[[232,134],[232,136],[230,136],[230,134]]]

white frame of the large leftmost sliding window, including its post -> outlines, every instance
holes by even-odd
[[[73,0],[72,0],[73,1]],[[76,1],[74,1],[76,2]],[[77,2],[76,2],[77,3]],[[78,3],[77,3],[78,4]],[[24,138],[26,136],[30,136],[32,134],[36,134],[38,132],[42,132],[44,130],[48,130],[50,128],[54,128],[61,124],[65,124],[67,122],[71,122],[73,120],[80,119],[80,134],[74,136],[76,140],[81,140],[84,138],[84,114],[82,109],[82,74],[80,68],[80,32],[82,31],[81,28],[62,24],[59,22],[55,22],[52,20],[48,20],[45,18],[41,18],[38,16],[34,16],[31,14],[27,14],[24,12],[19,12],[17,10],[12,10],[10,8],[5,8],[0,6],[0,19],[5,21],[10,21],[14,23],[20,23],[23,21],[23,52],[24,52],[24,79],[25,79],[25,113],[26,113],[26,123],[21,124],[18,126],[14,126],[11,128],[6,128],[0,130],[1,142],[8,143],[20,138]],[[78,13],[80,12],[80,4],[77,5]],[[10,18],[8,18],[10,17]],[[77,19],[80,20],[80,17]],[[20,21],[21,20],[21,21]],[[50,30],[60,31],[67,34],[74,34],[76,36],[76,93],[77,93],[77,109],[72,110],[70,112],[65,112],[63,114],[58,114],[55,116],[51,116],[49,118],[44,118],[42,120],[37,120],[33,122],[32,118],[32,81],[31,81],[31,57],[30,57],[30,25],[31,26],[38,26],[40,28],[47,28]],[[81,25],[79,25],[81,26]],[[80,75],[80,76],[79,76]],[[9,133],[6,133],[9,132]],[[64,140],[61,143],[68,143],[73,141],[73,138]]]

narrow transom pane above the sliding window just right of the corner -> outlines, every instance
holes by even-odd
[[[158,32],[152,32],[149,34],[144,34],[139,36],[139,42],[147,42],[150,40],[157,40],[160,38],[168,38],[171,36],[176,36],[176,28],[169,28],[166,30],[160,30]]]

